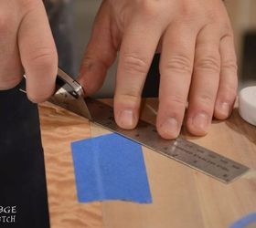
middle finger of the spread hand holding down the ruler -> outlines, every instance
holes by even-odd
[[[156,126],[165,139],[178,136],[187,105],[197,29],[172,25],[166,32],[160,60],[159,109]]]

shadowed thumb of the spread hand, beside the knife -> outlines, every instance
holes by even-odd
[[[107,70],[116,57],[118,48],[116,34],[116,27],[111,22],[109,3],[104,1],[95,18],[78,78],[87,95],[101,88]]]

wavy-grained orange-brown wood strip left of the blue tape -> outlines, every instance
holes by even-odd
[[[39,107],[51,228],[102,227],[101,203],[77,200],[70,142],[91,137],[87,119],[50,103]]]

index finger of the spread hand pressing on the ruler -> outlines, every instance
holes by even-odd
[[[124,129],[137,124],[144,81],[161,34],[154,22],[137,18],[124,31],[114,95],[115,120]]]

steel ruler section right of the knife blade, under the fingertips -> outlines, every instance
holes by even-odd
[[[158,135],[154,125],[143,120],[139,120],[134,130],[123,130],[114,121],[112,107],[91,98],[86,98],[86,103],[95,123],[219,181],[229,183],[249,170],[239,162],[232,161],[191,141],[182,138],[164,140]]]

